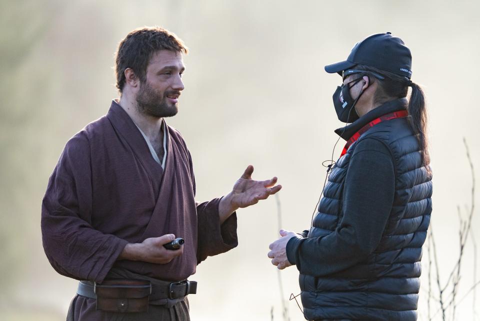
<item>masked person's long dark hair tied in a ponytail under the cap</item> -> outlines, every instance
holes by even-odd
[[[428,153],[428,137],[427,137],[427,114],[425,107],[425,97],[423,90],[415,83],[410,82],[408,78],[399,76],[384,70],[380,70],[373,67],[364,65],[357,65],[355,69],[375,72],[385,77],[380,80],[375,77],[370,77],[370,80],[378,82],[378,87],[374,94],[374,103],[383,104],[393,99],[406,97],[408,93],[408,87],[411,86],[411,94],[408,100],[408,115],[410,116],[410,124],[418,137],[420,144],[420,153],[423,166],[430,163],[430,156]],[[428,174],[430,175],[430,169],[427,167]]]

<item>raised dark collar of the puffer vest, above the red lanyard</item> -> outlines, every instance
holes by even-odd
[[[372,120],[388,113],[406,109],[407,105],[408,105],[408,100],[406,98],[399,98],[399,99],[386,102],[383,105],[380,105],[377,108],[370,110],[368,113],[361,116],[360,118],[355,120],[353,123],[348,124],[344,127],[335,129],[335,133],[341,138],[343,138],[344,140],[348,140],[350,139],[351,136],[353,136],[353,134],[355,134],[363,126],[365,126]]]

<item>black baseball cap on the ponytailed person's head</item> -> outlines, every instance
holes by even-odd
[[[411,77],[411,53],[403,41],[391,33],[371,35],[353,46],[345,61],[325,66],[330,74],[365,65],[390,73]]]

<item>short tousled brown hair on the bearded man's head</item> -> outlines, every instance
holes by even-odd
[[[120,41],[115,53],[116,88],[120,94],[125,85],[125,69],[130,68],[140,81],[145,81],[148,62],[159,50],[188,53],[186,46],[175,34],[160,27],[135,29]]]

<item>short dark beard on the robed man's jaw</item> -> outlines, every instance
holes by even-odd
[[[156,118],[171,117],[178,113],[177,104],[168,102],[167,96],[179,94],[179,91],[156,92],[145,81],[140,82],[140,89],[136,95],[137,109],[140,113]]]

